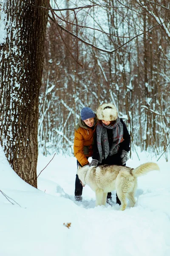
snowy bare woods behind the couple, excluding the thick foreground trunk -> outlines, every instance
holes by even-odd
[[[81,109],[88,106],[96,111],[103,102],[112,102],[130,131],[131,148],[138,145],[155,154],[165,152],[167,157],[170,2],[57,3],[57,8],[67,9],[57,12],[57,23],[82,41],[48,23],[38,131],[43,153],[72,154]],[[88,4],[93,7],[69,10]],[[56,8],[56,3],[52,1],[51,6]]]

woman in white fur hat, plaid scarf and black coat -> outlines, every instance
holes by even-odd
[[[123,120],[119,118],[115,105],[105,103],[96,111],[99,119],[96,126],[93,160],[90,166],[125,166],[130,150],[130,135]],[[111,198],[111,192],[108,193]],[[121,204],[116,195],[116,203]]]

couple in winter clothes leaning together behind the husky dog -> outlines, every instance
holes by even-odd
[[[79,123],[75,128],[74,155],[77,166],[103,164],[125,166],[130,150],[130,135],[126,125],[119,118],[115,105],[105,103],[99,106],[96,114],[91,108],[83,108]],[[82,184],[78,175],[75,182],[75,199],[82,201]],[[108,193],[107,202],[111,199]],[[116,195],[116,203],[121,204]]]

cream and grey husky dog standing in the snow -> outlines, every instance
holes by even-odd
[[[118,198],[121,201],[121,210],[127,207],[126,197],[130,201],[130,207],[135,204],[135,192],[137,188],[137,177],[152,170],[159,170],[156,163],[144,163],[136,169],[117,166],[83,166],[78,168],[77,174],[82,186],[88,184],[96,193],[96,206],[105,205],[107,194],[116,189]]]

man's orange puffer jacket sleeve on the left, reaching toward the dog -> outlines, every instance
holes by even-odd
[[[79,163],[82,166],[85,166],[86,164],[89,164],[87,158],[85,157],[84,151],[84,138],[82,134],[78,130],[75,130],[75,136],[74,136],[74,156],[77,158]]]

